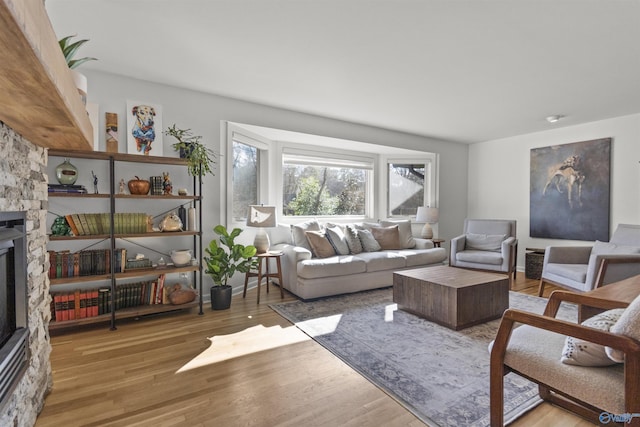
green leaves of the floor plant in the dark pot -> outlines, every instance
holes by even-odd
[[[236,272],[246,273],[257,267],[258,259],[254,258],[256,247],[235,243],[235,238],[242,233],[240,228],[229,233],[224,225],[217,225],[213,231],[220,236],[220,244],[217,239],[209,242],[209,247],[204,249],[209,256],[205,256],[204,261],[207,265],[205,273],[216,286],[226,285]]]

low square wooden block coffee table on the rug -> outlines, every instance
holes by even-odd
[[[393,273],[398,308],[454,330],[498,319],[509,308],[509,276],[449,266]]]

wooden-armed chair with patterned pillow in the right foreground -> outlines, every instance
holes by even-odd
[[[557,319],[561,301],[614,308],[609,300],[554,291],[544,315],[506,310],[490,346],[491,426],[503,425],[503,377],[509,372],[537,383],[543,400],[595,424],[619,425],[613,422],[618,417],[640,426],[640,297],[617,319],[610,311],[584,324]]]

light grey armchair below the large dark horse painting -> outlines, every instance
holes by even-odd
[[[549,283],[578,292],[640,274],[640,225],[620,224],[610,242],[593,246],[548,246],[538,295]]]

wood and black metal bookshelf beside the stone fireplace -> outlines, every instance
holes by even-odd
[[[119,271],[119,267],[117,268],[117,265],[120,265],[119,263],[123,261],[121,261],[122,257],[119,251],[120,248],[117,247],[117,242],[120,242],[120,241],[125,242],[125,247],[127,245],[126,242],[128,242],[129,244],[134,244],[136,246],[139,245],[144,248],[145,246],[142,244],[142,242],[144,242],[144,239],[147,239],[147,238],[169,239],[168,240],[169,242],[173,238],[177,238],[177,237],[184,238],[186,236],[186,237],[193,238],[192,244],[185,245],[185,242],[181,241],[180,245],[184,245],[186,247],[191,246],[191,249],[193,250],[193,255],[196,257],[196,260],[198,261],[197,265],[188,265],[183,267],[176,267],[173,264],[169,263],[166,267],[161,267],[161,268],[158,268],[158,267],[136,268],[136,269],[127,269],[124,272],[93,274],[93,275],[86,275],[86,272],[88,272],[89,270],[87,269],[82,270],[82,268],[85,268],[87,264],[80,263],[79,271],[85,272],[85,275],[83,276],[80,276],[77,271],[75,271],[75,275],[73,275],[74,272],[72,270],[74,268],[77,268],[77,259],[78,259],[77,255],[74,255],[75,258],[72,258],[72,257],[65,258],[67,260],[67,264],[64,264],[64,265],[66,265],[67,267],[61,267],[60,261],[58,261],[58,265],[52,264],[52,268],[49,270],[50,276],[51,275],[60,276],[61,274],[60,268],[63,268],[63,269],[68,268],[69,275],[71,275],[72,277],[57,277],[57,278],[50,277],[49,282],[51,285],[51,292],[53,294],[56,294],[58,297],[64,294],[69,299],[69,301],[73,301],[73,303],[69,303],[67,305],[67,310],[73,311],[73,309],[68,308],[68,307],[73,307],[73,305],[77,305],[78,307],[80,307],[81,310],[84,310],[84,307],[85,307],[84,304],[86,304],[86,306],[89,307],[89,304],[90,304],[89,301],[91,300],[91,298],[86,297],[85,295],[82,295],[82,294],[89,293],[90,291],[95,293],[97,291],[96,289],[97,287],[100,289],[100,292],[106,292],[106,293],[100,294],[101,295],[100,298],[102,298],[102,296],[107,294],[113,296],[113,298],[110,297],[109,299],[111,302],[109,303],[110,313],[108,314],[96,315],[96,313],[98,312],[109,311],[109,310],[106,308],[106,306],[103,303],[100,303],[100,309],[98,310],[95,304],[96,300],[94,299],[93,308],[96,311],[94,311],[93,316],[78,318],[79,317],[77,314],[78,307],[75,307],[75,312],[76,312],[75,319],[66,320],[67,315],[65,314],[63,316],[65,320],[60,320],[60,317],[58,317],[57,321],[52,320],[50,322],[49,329],[60,331],[64,329],[73,329],[73,328],[77,328],[84,325],[109,322],[111,325],[111,329],[114,330],[116,329],[116,321],[118,319],[139,317],[139,316],[144,316],[144,315],[153,314],[153,313],[164,313],[164,312],[175,311],[175,310],[185,310],[185,309],[191,309],[193,307],[198,307],[199,314],[203,314],[203,311],[202,311],[203,269],[201,267],[203,248],[202,248],[202,232],[201,231],[185,230],[185,231],[165,231],[165,232],[153,231],[153,232],[135,232],[135,233],[114,233],[112,231],[108,233],[104,232],[106,230],[119,231],[121,230],[118,228],[119,224],[122,224],[122,226],[124,226],[123,225],[125,224],[124,222],[117,222],[116,219],[117,218],[126,219],[128,214],[125,211],[125,213],[123,213],[123,216],[120,216],[121,211],[119,211],[117,208],[117,201],[121,200],[122,201],[121,203],[124,206],[126,204],[127,199],[135,199],[135,200],[144,199],[151,204],[156,204],[156,203],[166,204],[171,202],[175,202],[177,204],[183,204],[188,202],[189,204],[196,207],[196,212],[197,212],[196,228],[200,230],[202,228],[202,209],[200,207],[202,183],[200,182],[200,180],[196,178],[193,178],[193,189],[192,189],[192,194],[190,195],[184,195],[184,196],[173,195],[173,194],[171,195],[132,195],[132,194],[116,193],[117,185],[116,185],[116,178],[115,178],[115,175],[116,175],[115,169],[116,169],[116,165],[119,162],[167,165],[167,166],[172,166],[177,168],[183,168],[184,174],[186,176],[186,166],[187,166],[186,161],[184,159],[172,158],[172,157],[141,156],[141,155],[135,155],[135,154],[106,153],[106,152],[97,152],[97,151],[62,151],[57,149],[50,149],[48,154],[50,157],[80,158],[80,159],[89,159],[89,160],[95,160],[95,161],[108,162],[109,176],[110,176],[109,193],[100,193],[100,194],[95,194],[95,193],[78,194],[78,193],[65,193],[65,192],[49,193],[50,198],[57,199],[59,204],[64,204],[64,205],[68,204],[69,209],[74,211],[77,209],[74,200],[78,200],[82,198],[107,199],[108,205],[109,205],[107,207],[106,205],[107,200],[105,200],[105,202],[100,202],[100,203],[103,203],[103,206],[105,208],[103,212],[106,214],[106,216],[104,214],[100,214],[100,215],[85,214],[84,212],[73,213],[73,214],[66,213],[65,217],[67,218],[67,221],[70,224],[71,224],[71,221],[77,224],[77,221],[75,220],[76,217],[79,217],[82,219],[83,225],[85,225],[84,224],[85,219],[83,219],[85,217],[89,223],[91,223],[92,218],[97,220],[98,223],[100,223],[100,219],[107,220],[107,217],[108,217],[108,221],[107,222],[103,221],[101,223],[102,226],[98,227],[98,233],[95,233],[96,229],[95,227],[92,226],[91,231],[94,232],[95,234],[82,234],[83,230],[80,229],[81,228],[80,226],[77,226],[76,228],[78,228],[80,231],[79,233],[80,235],[78,236],[49,235],[49,244],[53,245],[53,247],[55,248],[55,250],[51,249],[51,246],[50,246],[51,253],[56,252],[56,254],[60,254],[61,252],[66,252],[66,251],[69,251],[69,253],[71,253],[71,251],[68,249],[69,248],[68,245],[67,247],[63,247],[62,249],[60,248],[60,245],[63,245],[64,242],[68,242],[70,244],[73,241],[89,241],[87,243],[88,245],[87,247],[92,247],[95,244],[99,243],[99,241],[108,240],[110,243],[110,248],[99,249],[98,252],[102,250],[107,252],[106,271]],[[67,198],[69,202],[68,203],[63,202],[61,200],[62,198]],[[80,206],[80,205],[77,205],[77,206]],[[91,208],[91,209],[95,209],[95,208]],[[164,208],[161,208],[161,209],[164,209]],[[132,226],[131,230],[140,230],[141,228],[142,229],[145,228],[144,226],[139,227],[142,225],[142,223],[135,222],[134,215],[136,214],[130,214],[130,215],[131,215],[130,218],[133,218],[131,222],[131,226]],[[124,219],[118,219],[118,221],[124,221]],[[108,223],[110,223],[110,225],[107,225]],[[129,224],[128,220],[126,224]],[[127,227],[129,227],[129,225],[127,225]],[[74,229],[74,231],[76,230]],[[86,229],[86,225],[85,225],[84,232],[88,232]],[[129,240],[129,239],[135,239],[135,240]],[[136,242],[136,240],[138,239],[142,239],[140,243]],[[95,240],[96,242],[91,243],[90,241],[92,240]],[[102,245],[104,245],[104,243],[102,243]],[[118,245],[120,245],[120,243],[118,243]],[[162,243],[162,245],[164,246],[164,243]],[[171,244],[169,243],[167,246],[170,247],[170,245]],[[151,250],[156,251],[154,249],[151,249]],[[82,253],[82,251],[80,252]],[[165,251],[163,250],[162,252],[165,252]],[[122,255],[124,256],[124,252],[122,253]],[[94,256],[94,255],[92,254],[91,256]],[[62,255],[62,257],[67,257],[67,255]],[[56,258],[59,259],[61,257],[57,256]],[[99,258],[95,258],[98,261],[93,261],[92,259],[93,262],[98,262],[98,263],[89,264],[90,266],[93,265],[93,267],[89,267],[89,269],[92,272],[104,271],[104,268],[103,268],[104,261],[102,261],[102,259],[104,258],[105,258],[104,256],[100,255]],[[76,262],[75,265],[73,264],[74,261]],[[50,262],[55,263],[56,260],[50,260]],[[162,286],[160,285],[160,283],[164,282],[164,277],[166,275],[173,274],[173,273],[178,273],[178,274],[191,273],[190,282],[193,284],[192,285],[193,288],[195,288],[198,291],[197,292],[198,298],[196,299],[196,301],[188,304],[182,304],[182,305],[171,305],[166,303],[165,304],[160,303],[161,300],[163,300],[163,294],[161,293],[163,291],[160,290],[162,289]],[[127,279],[138,279],[138,280],[137,282],[135,281],[127,282]],[[154,283],[153,291],[151,291],[152,292],[151,295],[154,295],[153,292],[156,292],[156,295],[158,298],[157,301],[154,300],[153,297],[150,298],[149,300],[146,299],[147,296],[145,295],[149,295],[149,294],[148,294],[148,291],[146,290],[147,288],[144,287],[144,284],[139,288],[135,288],[136,285],[139,285],[141,282],[153,282],[153,281],[157,282],[157,287],[156,287],[156,284]],[[102,285],[98,285],[96,284],[97,282],[104,282],[104,283]],[[94,283],[94,284],[91,285],[91,283]],[[170,282],[167,283],[167,285],[171,285],[171,284],[172,283]],[[127,304],[124,304],[125,306],[132,305],[131,303],[140,304],[140,303],[149,302],[149,301],[157,302],[157,303],[121,308],[122,305],[120,304],[120,301],[121,301],[120,292],[122,292],[123,287],[128,287],[129,289],[134,289],[134,288],[136,289],[135,291],[127,291],[127,292],[130,292],[129,294],[127,294],[129,295],[127,298],[131,298],[131,299],[126,300]],[[74,289],[74,290],[69,291],[69,289]],[[141,291],[141,289],[145,289],[145,291]],[[79,295],[82,295],[82,297],[79,297]],[[116,303],[115,301],[116,296],[118,299],[118,303]],[[60,300],[60,298],[58,298],[56,301],[58,300]],[[101,301],[107,301],[107,300],[101,299]],[[166,295],[164,295],[164,302],[166,302]],[[54,304],[54,307],[53,307],[54,313],[52,313],[52,319],[55,319],[56,307],[58,307],[58,310],[60,309],[59,305]],[[84,316],[84,314],[82,314],[82,316]],[[73,316],[69,316],[69,317],[73,317]]]

